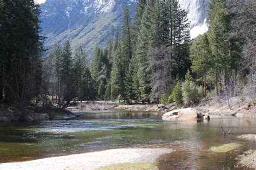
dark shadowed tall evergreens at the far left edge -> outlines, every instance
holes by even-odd
[[[0,1],[0,99],[23,108],[35,97],[33,83],[41,63],[39,6],[30,1]]]

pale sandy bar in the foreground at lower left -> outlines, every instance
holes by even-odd
[[[96,169],[122,163],[152,163],[170,148],[120,148],[99,152],[0,164],[0,169]]]

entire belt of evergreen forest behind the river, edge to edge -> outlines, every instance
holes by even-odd
[[[96,45],[92,60],[77,43],[55,43],[45,61],[39,6],[0,1],[1,103],[16,108],[63,107],[71,101],[195,105],[218,96],[255,101],[255,1],[215,0],[209,30],[191,40],[177,0],[138,1],[135,19]],[[73,52],[75,51],[75,52]]]

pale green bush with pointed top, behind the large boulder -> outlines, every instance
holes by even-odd
[[[190,72],[187,71],[185,81],[182,86],[184,102],[189,105],[198,103],[200,99],[200,93],[198,89],[199,87],[193,82]]]

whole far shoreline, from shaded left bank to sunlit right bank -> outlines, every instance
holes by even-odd
[[[220,116],[236,116],[236,117],[255,117],[256,116],[256,104],[250,100],[239,100],[238,97],[230,99],[231,105],[227,102],[221,102],[218,98],[210,98],[206,101],[202,101],[198,105],[194,105],[192,108],[196,109],[203,114],[208,115],[220,115]],[[186,107],[181,107],[186,108]],[[50,108],[48,110],[42,110],[40,112],[28,111],[27,114],[21,115],[19,112],[12,111],[8,108],[0,108],[0,122],[40,122],[45,120],[61,120],[72,119],[79,115],[73,114],[72,111],[77,112],[90,112],[90,111],[111,111],[111,110],[124,110],[124,111],[151,111],[165,113],[172,110],[180,109],[170,104],[116,104],[111,101],[91,101],[82,103],[73,103],[66,109]]]

